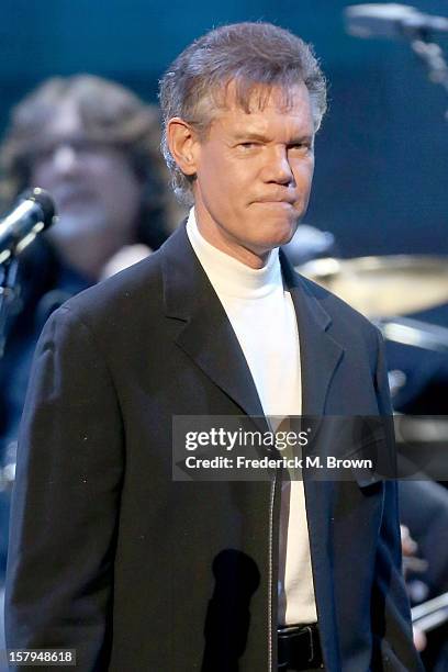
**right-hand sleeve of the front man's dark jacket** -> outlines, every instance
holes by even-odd
[[[378,334],[376,385],[380,413],[392,415],[384,345]],[[387,423],[391,429],[392,424]],[[388,430],[387,429],[387,430]],[[389,440],[394,451],[393,432]],[[373,636],[372,670],[376,672],[424,672],[413,643],[410,604],[402,571],[396,481],[385,480],[384,504],[376,558],[371,617]]]

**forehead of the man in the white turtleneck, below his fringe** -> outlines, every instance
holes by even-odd
[[[259,85],[242,104],[234,82],[226,87],[222,104],[214,114],[211,131],[227,133],[258,133],[283,130],[293,133],[314,133],[310,93],[304,83],[288,88]]]

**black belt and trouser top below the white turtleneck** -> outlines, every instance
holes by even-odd
[[[279,670],[318,670],[323,668],[321,640],[315,623],[279,628],[278,667]]]

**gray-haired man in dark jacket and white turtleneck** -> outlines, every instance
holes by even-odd
[[[160,100],[194,209],[41,338],[9,646],[76,648],[86,671],[421,670],[393,482],[171,478],[177,416],[389,411],[377,331],[278,254],[309,200],[317,63],[273,25],[223,26],[175,60]]]

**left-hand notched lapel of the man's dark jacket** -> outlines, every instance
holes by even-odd
[[[168,317],[183,322],[177,345],[244,413],[267,429],[262,406],[235,332],[184,225],[161,250],[164,300]]]

